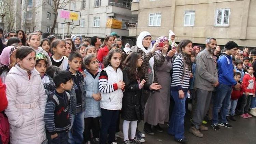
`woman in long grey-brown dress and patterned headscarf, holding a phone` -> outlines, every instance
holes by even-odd
[[[155,51],[154,58],[160,58],[161,55],[166,55],[169,48],[169,40],[167,37],[159,37],[157,43],[164,43],[165,46],[162,49]],[[159,92],[152,93],[145,105],[145,119],[147,124],[153,125],[158,132],[163,132],[159,124],[164,124],[165,121],[169,121],[169,106],[170,106],[170,86],[171,76],[170,71],[172,69],[171,57],[174,55],[175,49],[171,49],[162,64],[157,66],[157,82],[162,88]]]

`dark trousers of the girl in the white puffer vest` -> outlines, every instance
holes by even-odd
[[[119,116],[119,110],[101,109],[101,130],[100,143],[107,144],[115,142],[116,121]],[[109,137],[108,137],[109,134]],[[108,139],[108,142],[107,142]]]

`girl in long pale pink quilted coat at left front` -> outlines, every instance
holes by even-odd
[[[22,46],[16,52],[17,64],[6,76],[8,107],[5,114],[10,123],[12,144],[47,144],[44,110],[47,96],[35,67],[35,50]]]

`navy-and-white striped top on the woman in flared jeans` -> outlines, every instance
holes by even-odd
[[[189,88],[189,71],[186,67],[185,74],[183,75],[183,57],[182,55],[178,55],[172,65],[172,83],[171,83],[171,90],[179,91],[183,90],[186,92]]]

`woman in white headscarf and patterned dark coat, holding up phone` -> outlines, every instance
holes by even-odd
[[[147,31],[143,31],[137,38],[136,46],[131,47],[132,52],[138,52],[142,55],[143,63],[141,65],[142,71],[145,76],[147,84],[158,83],[157,82],[157,71],[156,67],[161,67],[165,62],[165,57],[160,54],[160,57],[155,57],[155,51],[159,49],[159,42],[156,42],[154,46],[151,43],[151,34]],[[145,105],[147,98],[150,96],[150,92],[143,90],[143,95],[141,97],[141,105]],[[142,106],[142,119],[144,118],[144,106]],[[151,129],[151,125],[145,123],[144,131],[148,134],[154,134]]]

